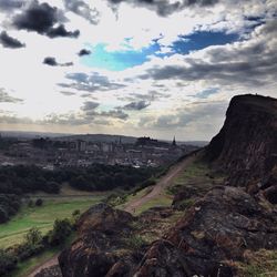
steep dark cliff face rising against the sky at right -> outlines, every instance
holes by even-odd
[[[207,156],[228,173],[232,185],[263,183],[277,164],[277,100],[233,98]]]

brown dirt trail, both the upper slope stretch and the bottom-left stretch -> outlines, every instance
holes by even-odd
[[[170,168],[170,171],[166,173],[165,176],[163,176],[156,185],[153,187],[153,189],[148,193],[142,196],[138,199],[131,201],[125,207],[124,211],[133,214],[138,207],[147,203],[148,201],[152,201],[156,197],[158,197],[163,191],[168,187],[173,181],[185,171],[186,166],[194,162],[197,157],[197,153],[188,155],[185,157],[182,162],[175,164]],[[58,257],[60,253],[54,255],[52,258],[43,263],[42,265],[39,265],[28,277],[34,277],[35,274],[40,273],[42,269],[58,265]]]

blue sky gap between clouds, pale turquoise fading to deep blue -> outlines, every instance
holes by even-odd
[[[126,39],[126,44],[129,40]],[[150,47],[142,48],[140,51],[130,47],[122,51],[107,51],[106,44],[99,43],[91,48],[90,55],[81,58],[81,63],[90,68],[122,71],[147,62],[152,55],[163,58],[175,53],[187,54],[191,51],[201,50],[209,45],[223,45],[236,40],[238,40],[237,34],[202,31],[185,37],[181,35],[177,41],[173,42],[168,53],[160,52],[162,48],[160,39],[153,40]]]

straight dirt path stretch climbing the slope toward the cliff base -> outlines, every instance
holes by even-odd
[[[172,184],[172,181],[175,179],[178,176],[178,174],[181,172],[183,172],[185,170],[185,167],[189,163],[192,163],[195,158],[196,158],[196,155],[188,156],[184,161],[182,161],[181,163],[174,165],[170,170],[170,172],[157,182],[157,184],[153,187],[153,189],[148,194],[144,195],[140,199],[134,199],[134,201],[130,202],[125,206],[124,211],[132,214],[138,207],[144,205],[146,202],[148,202],[153,198],[156,198],[167,186],[170,186]]]

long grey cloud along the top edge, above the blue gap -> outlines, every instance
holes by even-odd
[[[219,0],[179,0],[172,2],[170,0],[107,0],[113,7],[121,2],[129,2],[135,7],[146,7],[155,10],[160,16],[166,17],[173,12],[183,10],[187,7],[198,6],[208,7],[216,4]]]

